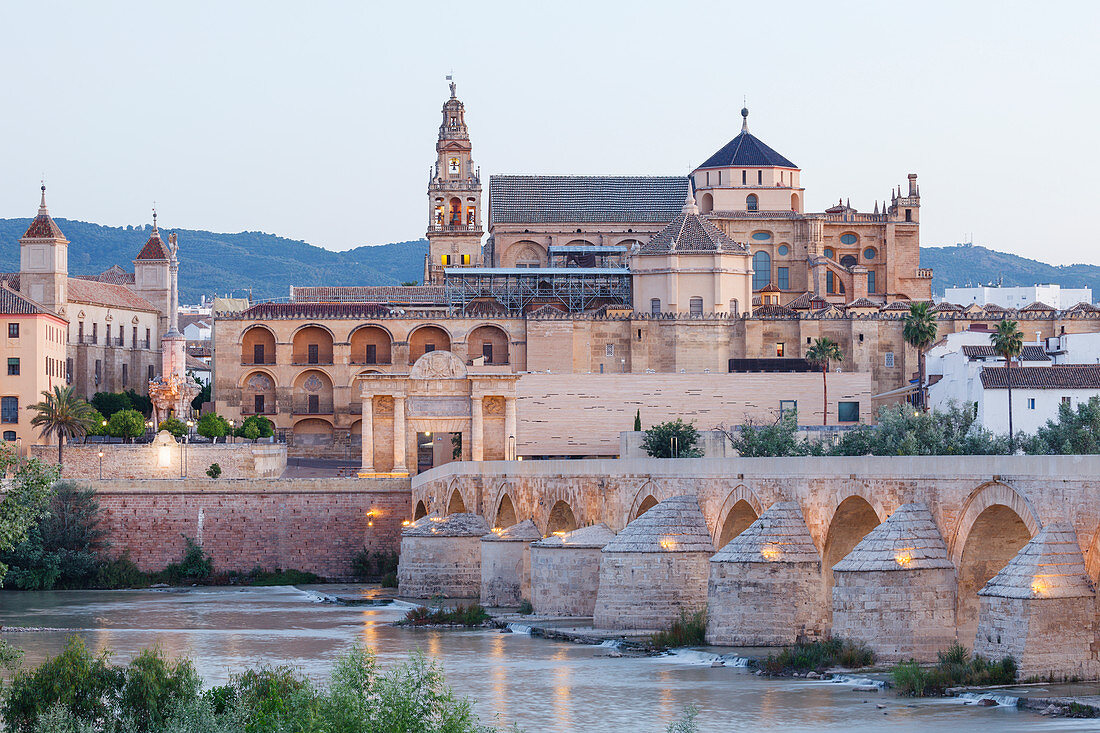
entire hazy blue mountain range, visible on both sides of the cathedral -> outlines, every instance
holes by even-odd
[[[56,219],[69,244],[69,273],[95,275],[112,264],[133,271],[133,259],[148,239],[151,226],[103,227]],[[19,270],[19,238],[30,219],[0,219],[0,272]],[[260,231],[219,234],[198,229],[179,233],[179,292],[184,303],[200,295],[234,292],[252,297],[289,295],[290,285],[398,285],[424,276],[427,240],[358,247],[331,252],[306,242]],[[1049,265],[985,247],[956,244],[921,249],[921,266],[932,267],[933,293],[955,285],[1034,285],[1057,283],[1091,287],[1100,296],[1100,266]]]

